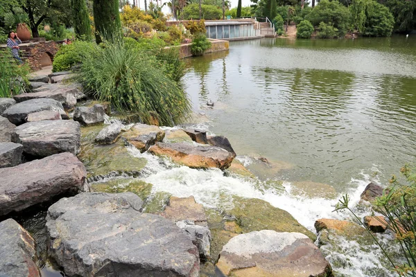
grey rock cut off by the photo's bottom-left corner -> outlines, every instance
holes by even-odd
[[[31,235],[11,218],[0,222],[0,276],[40,277],[35,260]]]

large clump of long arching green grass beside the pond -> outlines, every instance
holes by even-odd
[[[180,85],[164,72],[155,56],[120,42],[105,42],[83,61],[79,81],[98,100],[133,112],[144,123],[157,114],[161,125],[187,118],[191,108]]]

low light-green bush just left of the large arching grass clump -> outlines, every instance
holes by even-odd
[[[94,44],[76,40],[75,42],[62,45],[53,59],[53,72],[66,71],[74,64],[79,64],[94,52]]]

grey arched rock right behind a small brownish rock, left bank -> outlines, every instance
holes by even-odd
[[[29,93],[27,93],[29,94]],[[24,102],[12,105],[6,111],[3,112],[2,116],[8,118],[8,120],[15,124],[21,125],[26,122],[28,114],[33,114],[36,111],[59,111],[63,119],[68,119],[69,116],[64,111],[64,107],[57,100],[49,98],[31,99]]]

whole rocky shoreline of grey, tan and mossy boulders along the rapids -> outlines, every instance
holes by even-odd
[[[316,240],[260,199],[234,197],[233,208],[217,211],[193,197],[150,195],[152,184],[134,179],[146,159],[125,145],[180,166],[254,175],[234,159],[224,136],[119,120],[103,125],[111,108],[80,105],[85,96],[64,82],[70,78],[40,76],[31,80],[31,93],[0,98],[0,275],[41,276],[35,240],[8,217],[57,197],[46,215],[45,256],[65,276],[329,277],[333,236],[356,240],[365,230],[318,220]],[[380,193],[370,184],[363,201]],[[366,222],[385,231],[380,220]]]

